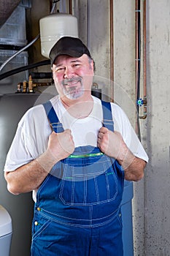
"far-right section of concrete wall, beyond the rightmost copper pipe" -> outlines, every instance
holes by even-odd
[[[147,17],[148,118],[150,164],[145,176],[145,250],[147,255],[170,252],[170,1],[150,1]]]

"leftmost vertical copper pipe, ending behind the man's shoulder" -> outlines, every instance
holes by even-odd
[[[114,102],[114,53],[113,53],[113,0],[110,0],[110,82],[111,102]]]

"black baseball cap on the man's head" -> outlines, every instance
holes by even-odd
[[[79,58],[83,54],[87,54],[90,58],[90,52],[83,42],[77,37],[61,37],[58,42],[53,45],[50,50],[51,65],[55,62],[55,59],[60,55],[69,55],[74,58]]]

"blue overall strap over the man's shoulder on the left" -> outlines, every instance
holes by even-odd
[[[58,119],[57,114],[55,113],[55,110],[53,108],[53,105],[51,104],[50,100],[42,104],[45,108],[45,112],[47,114],[47,118],[50,121],[50,125],[53,128],[54,132],[63,132],[63,125]]]

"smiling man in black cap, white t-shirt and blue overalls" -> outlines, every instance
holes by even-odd
[[[31,255],[121,256],[123,181],[143,177],[147,154],[123,110],[92,97],[80,39],[50,59],[58,96],[23,116],[4,167],[9,192],[34,192]]]

